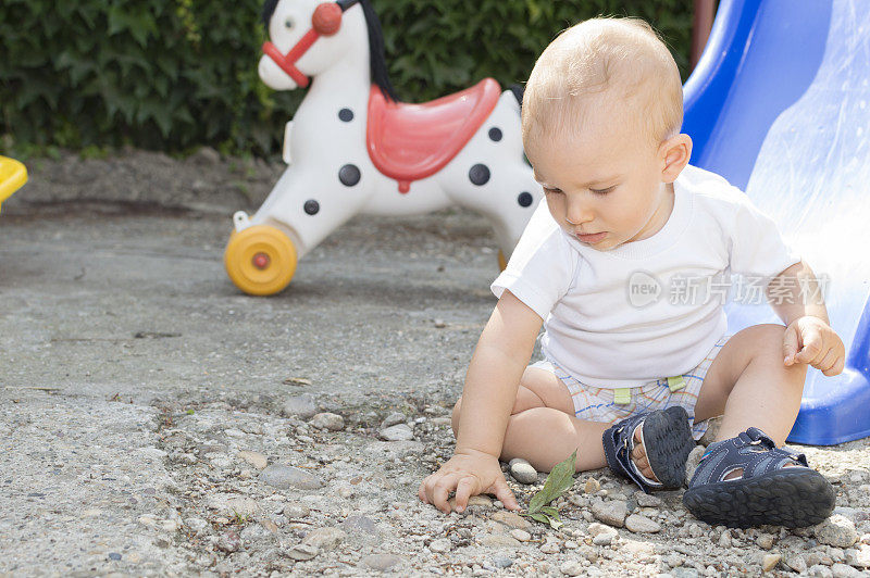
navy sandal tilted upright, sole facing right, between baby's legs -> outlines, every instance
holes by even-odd
[[[638,426],[649,467],[659,481],[641,474],[632,460],[634,431]],[[695,447],[688,414],[680,406],[623,419],[605,431],[601,442],[610,469],[618,476],[634,481],[646,493],[683,486],[686,458]]]

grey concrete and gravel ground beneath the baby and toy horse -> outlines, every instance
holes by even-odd
[[[559,530],[420,503],[495,303],[488,227],[359,217],[245,297],[229,215],[279,171],[64,155],[3,204],[0,576],[870,576],[868,440],[799,448],[838,506],[804,530],[710,527],[606,470]],[[527,503],[544,476],[508,478]]]

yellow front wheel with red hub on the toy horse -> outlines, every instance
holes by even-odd
[[[272,296],[287,287],[296,273],[296,261],[289,237],[269,225],[233,233],[224,252],[227,275],[251,296]]]

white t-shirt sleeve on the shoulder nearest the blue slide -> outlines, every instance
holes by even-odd
[[[743,192],[734,219],[729,260],[733,273],[772,278],[800,262],[800,255],[785,242],[773,219]]]

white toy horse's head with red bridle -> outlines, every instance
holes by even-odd
[[[348,10],[360,0],[266,0],[263,45],[258,72],[275,90],[304,88],[310,77],[328,70],[349,50],[365,43],[362,15]],[[359,9],[357,9],[358,11]]]

